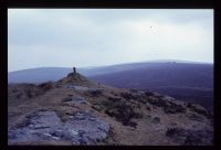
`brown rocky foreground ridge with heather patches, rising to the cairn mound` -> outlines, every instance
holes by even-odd
[[[154,92],[116,88],[70,73],[9,84],[9,144],[210,146],[213,115]]]

